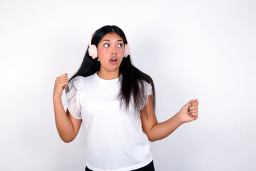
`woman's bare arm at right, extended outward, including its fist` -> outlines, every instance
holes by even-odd
[[[190,100],[172,118],[163,123],[158,123],[151,95],[148,95],[148,103],[140,110],[143,132],[148,135],[148,139],[152,142],[166,138],[183,123],[188,123],[198,118],[198,104],[198,99]]]

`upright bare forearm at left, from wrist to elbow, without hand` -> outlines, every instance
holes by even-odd
[[[73,137],[75,136],[73,131],[73,125],[63,108],[61,98],[53,98],[53,107],[58,135],[60,135],[61,140],[63,140],[64,142],[72,141]]]

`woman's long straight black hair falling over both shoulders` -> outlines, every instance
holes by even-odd
[[[123,38],[123,43],[127,43],[125,33],[118,28],[118,26],[103,26],[99,28],[93,35],[91,39],[91,44],[94,44],[98,47],[98,43],[101,41],[101,38],[105,36],[107,33],[117,33],[121,38]],[[97,61],[97,58],[93,59],[89,56],[88,48],[86,51],[86,55],[83,58],[83,62],[78,69],[78,71],[69,79],[71,81],[76,76],[91,76],[96,71],[100,71],[101,63]],[[118,98],[121,100],[121,105],[126,103],[126,109],[128,109],[130,104],[130,97],[133,96],[133,102],[135,105],[135,110],[139,111],[140,105],[143,104],[145,100],[145,84],[143,81],[150,83],[152,86],[152,100],[153,106],[155,108],[155,86],[152,78],[147,74],[140,71],[138,68],[133,66],[130,61],[130,55],[127,58],[123,58],[121,66],[119,68],[119,74],[122,74],[122,77],[119,77],[119,81],[121,81],[121,90],[118,95]],[[69,88],[66,87],[66,93],[68,93]]]

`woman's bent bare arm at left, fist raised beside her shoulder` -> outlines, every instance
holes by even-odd
[[[68,109],[65,112],[63,108],[61,96],[66,86],[68,86],[68,74],[65,73],[56,78],[53,90],[53,107],[58,135],[64,142],[71,142],[76,138],[82,120],[73,118]]]

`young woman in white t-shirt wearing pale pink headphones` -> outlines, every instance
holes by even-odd
[[[66,112],[61,102],[65,88]],[[66,73],[57,77],[53,90],[58,134],[71,142],[83,123],[86,170],[93,171],[155,170],[149,140],[161,140],[197,119],[198,104],[190,100],[158,123],[154,83],[131,63],[126,36],[117,26],[93,33],[81,67],[69,81]]]

